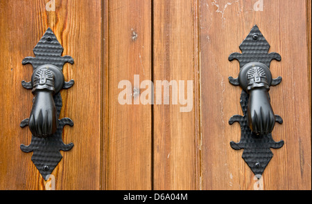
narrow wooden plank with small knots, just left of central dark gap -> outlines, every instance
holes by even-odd
[[[151,80],[150,1],[109,1],[108,150],[105,189],[151,189],[151,105],[139,102],[139,82]],[[128,80],[131,104],[119,103]],[[145,89],[141,87],[141,91]],[[122,94],[122,93],[121,93]],[[139,104],[135,104],[139,102]]]

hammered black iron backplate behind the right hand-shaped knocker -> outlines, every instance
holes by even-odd
[[[268,53],[270,45],[263,37],[257,25],[255,25],[248,36],[239,46],[242,53],[232,53],[229,55],[229,61],[237,59],[239,61],[240,70],[250,62],[259,62],[270,68],[272,59],[281,60],[278,53]],[[229,82],[234,86],[239,86],[239,78],[229,77]],[[281,82],[281,77],[272,79],[270,85],[276,86]],[[275,142],[272,139],[272,133],[257,135],[252,132],[248,122],[248,101],[250,95],[246,91],[241,92],[241,109],[243,115],[233,115],[229,119],[229,124],[239,122],[241,126],[241,141],[230,142],[233,149],[243,149],[242,158],[248,164],[255,175],[262,175],[264,169],[270,162],[273,154],[270,148],[278,149],[284,145],[284,141]],[[281,124],[283,120],[279,115],[275,115],[275,121]]]

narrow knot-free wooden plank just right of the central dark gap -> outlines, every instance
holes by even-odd
[[[197,7],[197,1],[153,1],[153,189],[200,189]],[[184,98],[191,80],[191,109],[182,112],[187,105],[172,102],[172,86],[170,104],[164,102],[164,88],[157,104],[157,80],[184,81]]]

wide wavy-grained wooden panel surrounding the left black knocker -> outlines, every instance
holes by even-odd
[[[45,30],[51,27],[71,55],[73,65],[64,66],[65,80],[75,85],[62,90],[60,118],[69,117],[74,127],[64,127],[63,140],[73,142],[71,151],[62,152],[53,171],[55,189],[99,189],[100,100],[101,91],[101,1],[55,1],[55,11],[47,11],[49,1],[0,2],[0,73],[1,122],[0,189],[49,189],[19,145],[28,145],[31,133],[19,123],[28,118],[33,95],[23,89],[21,80],[29,81],[33,68],[21,60],[33,55],[33,48]],[[18,19],[18,20],[17,20]]]

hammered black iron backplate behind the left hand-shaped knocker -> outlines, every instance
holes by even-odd
[[[53,104],[55,104],[57,120],[55,133],[46,137],[38,137],[32,134],[31,144],[28,146],[21,145],[21,151],[26,153],[33,151],[31,160],[40,171],[40,174],[44,180],[49,178],[49,175],[52,173],[53,169],[55,169],[60,160],[62,160],[60,150],[69,151],[73,147],[73,143],[66,145],[62,141],[62,129],[64,125],[69,124],[69,126],[73,126],[73,121],[70,118],[62,118],[60,120],[58,119],[62,109],[62,96],[60,95],[60,89],[69,89],[71,86],[73,86],[74,83],[73,80],[64,82],[64,76],[62,75],[63,65],[66,62],[73,64],[73,58],[70,56],[61,57],[62,51],[63,48],[60,45],[58,39],[56,39],[51,28],[48,28],[38,44],[35,46],[35,48],[33,48],[33,53],[36,57],[26,57],[22,61],[22,64],[32,64],[33,73],[38,73],[38,69],[40,69],[42,66],[46,66],[47,68],[45,68],[45,71],[53,71],[53,69],[55,69],[55,76],[53,75],[53,77],[63,77],[63,81],[61,80],[61,87],[57,88],[57,85],[55,84],[55,93],[53,94]],[[52,79],[51,72],[49,72],[49,75]],[[33,86],[35,84],[35,80],[32,79],[31,82],[22,81],[21,85],[25,89],[33,89],[34,93],[35,88]],[[45,84],[42,86],[45,86]],[[54,87],[52,89],[54,90]],[[41,103],[44,106],[45,102]],[[28,125],[31,125],[30,120],[29,118],[26,118],[21,122],[20,127],[26,127]]]

